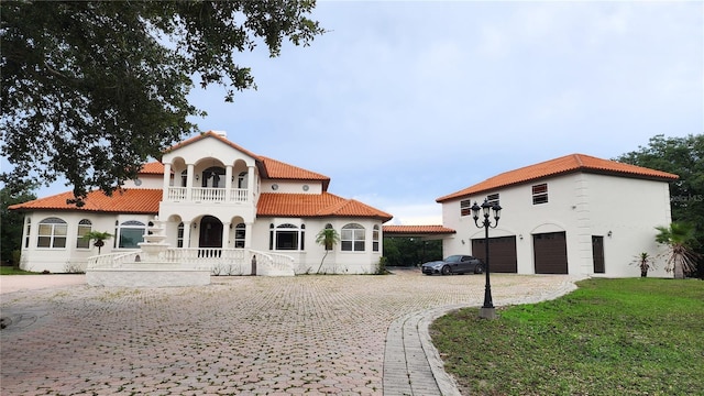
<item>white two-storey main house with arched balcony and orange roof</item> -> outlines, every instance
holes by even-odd
[[[111,197],[96,190],[78,208],[66,204],[73,193],[65,193],[10,209],[25,213],[21,267],[29,271],[84,271],[89,257],[92,265],[113,265],[95,258],[98,249],[82,238],[90,231],[113,235],[101,255],[139,262],[145,235],[160,230],[158,242],[168,245],[164,254],[205,262],[213,274],[266,274],[275,262],[288,275],[374,273],[382,224],[392,216],[330,194],[329,185],[327,176],[256,155],[209,131],[144,165]],[[338,244],[316,243],[326,228],[338,232]]]

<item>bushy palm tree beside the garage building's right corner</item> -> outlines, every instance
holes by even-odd
[[[694,243],[694,227],[689,223],[673,222],[670,227],[656,227],[658,234],[656,242],[666,244],[670,249],[667,257],[666,271],[674,271],[675,279],[684,279],[685,273],[696,268],[697,254],[692,249]]]

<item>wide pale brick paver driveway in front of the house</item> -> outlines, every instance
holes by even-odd
[[[497,306],[566,276],[493,275]],[[213,277],[184,288],[86,285],[2,295],[2,395],[381,395],[389,324],[481,305],[484,276]]]

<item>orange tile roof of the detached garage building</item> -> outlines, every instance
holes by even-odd
[[[670,182],[679,178],[678,175],[673,175],[667,172],[649,169],[646,167],[624,164],[615,161],[602,160],[584,154],[570,154],[559,158],[546,161],[539,164],[496,175],[465,189],[440,197],[436,199],[436,201],[443,202],[450,199],[465,197],[482,191],[494,190],[502,187],[518,185],[549,176],[557,176],[573,172],[597,173],[662,182]]]

